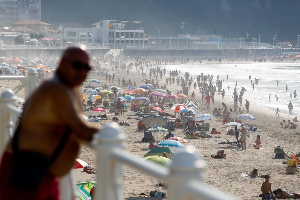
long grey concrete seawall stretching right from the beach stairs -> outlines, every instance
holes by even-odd
[[[281,49],[125,49],[122,57],[168,58],[245,58],[260,55],[279,55]]]

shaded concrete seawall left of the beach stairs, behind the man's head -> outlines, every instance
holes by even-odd
[[[91,49],[88,50],[91,57],[98,57],[101,56],[101,54],[105,54],[110,49]],[[10,55],[18,56],[18,57],[40,57],[40,58],[47,58],[47,59],[55,59],[61,57],[61,54],[64,52],[64,50],[60,49],[1,49],[0,50],[0,57],[5,56],[8,57]]]

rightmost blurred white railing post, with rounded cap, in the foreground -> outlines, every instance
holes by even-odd
[[[185,199],[185,186],[189,181],[202,180],[200,172],[204,169],[204,166],[204,162],[198,160],[196,150],[191,145],[176,153],[170,166],[170,174],[166,180],[169,188],[168,199]]]

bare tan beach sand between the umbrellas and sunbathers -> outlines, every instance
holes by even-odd
[[[128,60],[128,63],[134,62],[134,60]],[[243,61],[241,61],[243,62]],[[154,65],[157,67],[157,65]],[[164,68],[164,65],[159,66]],[[109,68],[109,67],[107,67]],[[175,70],[175,69],[174,69]],[[109,73],[112,73],[108,70]],[[126,80],[131,79],[131,81],[136,81],[137,86],[144,84],[141,82],[142,75],[137,74],[135,69],[130,71],[129,76],[125,77],[125,72],[122,71],[115,71],[116,78],[122,79],[125,78]],[[167,76],[168,73],[166,73]],[[181,76],[183,72],[181,73]],[[101,83],[91,83],[93,86],[97,86],[102,88],[102,85],[105,83],[104,76],[90,76],[90,78],[98,79]],[[149,76],[146,76],[149,79]],[[215,77],[216,78],[216,77]],[[164,78],[163,81],[159,81],[159,85],[164,85]],[[117,83],[108,83],[109,86],[116,86]],[[17,85],[16,81],[7,81],[3,80],[0,81],[0,92],[6,89],[12,89]],[[181,87],[177,86],[168,86],[173,91],[180,90]],[[83,87],[81,87],[83,91]],[[193,88],[190,90],[189,94],[194,91]],[[230,92],[226,95],[225,100],[222,100],[221,96],[215,95],[214,96],[214,105],[211,104],[209,109],[203,109],[205,103],[201,102],[201,94],[198,94],[198,89],[196,88],[196,95],[195,100],[199,102],[199,107],[196,108],[196,112],[198,114],[201,113],[209,113],[212,114],[212,110],[214,107],[222,108],[221,103],[224,102],[228,109],[232,108],[233,110],[233,99],[231,98],[233,88]],[[239,92],[239,91],[238,91]],[[24,89],[19,91],[16,95],[17,97],[24,98]],[[244,100],[243,100],[243,107],[244,107]],[[129,105],[129,103],[127,103]],[[287,110],[287,108],[286,108]],[[166,108],[165,112],[174,113],[173,110],[170,108]],[[98,112],[84,112],[84,115],[99,115],[103,113]],[[235,118],[236,116],[240,115],[241,113],[232,112],[230,114],[231,118]],[[289,116],[280,113],[280,118],[274,117],[274,112],[269,111],[265,108],[257,106],[250,101],[250,108],[249,114],[256,117],[256,121],[243,121],[249,125],[253,125],[257,127],[257,130],[261,131],[260,133],[252,133],[250,132],[250,137],[247,137],[247,149],[241,150],[238,148],[231,148],[227,147],[226,144],[218,144],[218,142],[226,142],[227,138],[229,141],[233,141],[233,136],[226,135],[226,129],[222,125],[223,118],[222,117],[214,117],[213,119],[209,120],[210,129],[215,128],[217,131],[220,131],[220,138],[209,138],[209,139],[187,139],[187,145],[193,145],[196,147],[199,158],[204,160],[206,163],[206,168],[204,172],[204,180],[203,182],[210,187],[217,188],[217,190],[221,190],[228,194],[235,196],[237,199],[244,199],[244,200],[252,200],[252,199],[261,199],[258,197],[260,192],[260,187],[264,178],[244,178],[240,176],[240,173],[247,173],[253,170],[253,168],[258,169],[259,174],[270,174],[271,179],[270,182],[272,183],[272,190],[276,188],[282,188],[287,191],[292,192],[300,192],[298,187],[298,179],[299,174],[286,174],[286,165],[280,164],[284,159],[273,159],[274,158],[274,147],[277,145],[283,147],[284,151],[288,151],[288,155],[290,152],[293,151],[298,153],[300,151],[299,142],[300,142],[300,135],[296,135],[295,133],[298,132],[297,129],[288,129],[288,128],[281,128],[279,123],[284,120],[292,119],[294,116]],[[110,122],[114,115],[108,115],[108,120],[102,122]],[[120,121],[127,120],[128,117],[135,118],[133,111],[125,112],[125,115],[119,115],[118,118]],[[95,123],[101,127],[101,122],[89,122]],[[128,119],[128,123],[130,126],[122,126],[122,130],[126,135],[126,146],[125,150],[130,152],[140,158],[144,156],[149,151],[149,142],[142,142],[141,139],[143,138],[143,132],[137,131],[137,121]],[[299,123],[297,124],[299,125]],[[210,131],[209,131],[210,132]],[[172,132],[175,136],[179,136],[185,139],[183,129],[177,129],[176,131]],[[291,134],[292,133],[292,134]],[[262,146],[265,149],[254,149],[252,148],[253,142],[256,139],[256,135],[260,135]],[[162,137],[158,134],[158,140],[162,141]],[[210,155],[216,154],[219,149],[224,149],[225,153],[227,154],[227,159],[212,159]],[[207,156],[207,157],[204,157]],[[96,158],[97,155],[95,151],[91,148],[82,146],[79,152],[78,158],[88,162],[92,167],[96,167]],[[124,192],[124,199],[144,199],[138,198],[140,193],[149,193],[149,191],[156,190],[157,188],[153,187],[154,183],[162,182],[164,180],[158,180],[153,178],[147,174],[140,173],[137,170],[125,166],[123,171],[123,192]],[[75,174],[75,181],[76,182],[83,182],[83,181],[95,181],[96,175],[94,174],[86,174],[80,172],[79,169],[74,170]],[[162,190],[162,189],[160,189]],[[162,190],[168,194],[168,190]],[[168,195],[167,195],[168,197]]]

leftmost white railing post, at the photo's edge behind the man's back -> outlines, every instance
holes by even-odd
[[[11,89],[2,92],[0,96],[0,157],[10,139],[7,126],[7,123],[10,122],[10,116],[7,114],[8,105],[16,106],[15,94]]]

